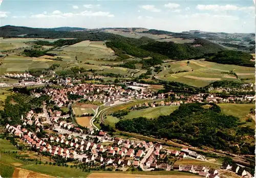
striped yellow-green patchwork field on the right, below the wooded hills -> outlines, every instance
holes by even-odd
[[[236,77],[229,72],[232,70],[237,73],[239,79],[249,78],[254,80],[253,67],[244,67],[237,65],[217,64],[207,61],[189,60],[167,62],[161,65],[162,71],[156,74],[156,78],[166,81],[181,82],[196,87],[203,87],[214,81],[231,80],[238,81]]]

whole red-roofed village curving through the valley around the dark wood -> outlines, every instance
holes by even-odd
[[[130,110],[140,110],[149,107],[172,106],[187,103],[236,103],[238,101],[252,103],[254,96],[246,95],[220,97],[217,94],[177,95],[174,92],[155,93],[150,89],[137,85],[136,89],[122,88],[120,85],[72,84],[66,79],[66,86],[61,88],[44,88],[37,92],[32,90],[33,97],[47,95],[55,107],[71,107],[79,101],[91,105],[115,106],[132,100],[147,99],[136,104]],[[97,115],[97,113],[95,113]],[[204,177],[222,177],[220,169],[208,166],[205,156],[184,147],[180,150],[170,149],[157,142],[138,140],[134,138],[116,137],[108,132],[91,127],[81,127],[72,120],[72,114],[47,108],[44,102],[42,112],[33,110],[21,115],[23,124],[6,125],[8,133],[12,134],[29,149],[48,157],[63,158],[67,161],[77,160],[90,166],[104,166],[116,171],[126,171],[131,167],[142,171],[182,171]],[[34,127],[34,128],[33,128]],[[31,129],[33,128],[33,129]],[[41,137],[39,133],[44,133]],[[195,159],[202,161],[201,165],[179,164],[177,160]],[[252,177],[244,166],[223,163],[221,171],[233,172],[243,177]]]

